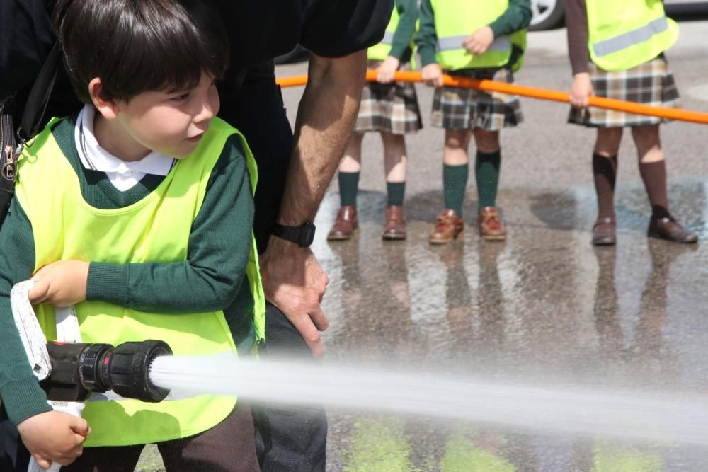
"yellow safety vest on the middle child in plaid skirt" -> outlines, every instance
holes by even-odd
[[[499,18],[509,6],[508,0],[430,0],[435,14],[435,34],[438,36],[438,52],[435,59],[442,69],[481,69],[503,67],[511,58],[512,45],[525,50],[526,30],[510,36],[494,39],[489,50],[480,56],[470,54],[462,42],[474,31],[489,25]],[[513,65],[518,71],[523,54]]]

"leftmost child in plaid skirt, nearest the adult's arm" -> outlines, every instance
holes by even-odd
[[[403,201],[406,191],[408,156],[405,134],[423,127],[416,88],[411,83],[393,82],[394,73],[411,59],[411,42],[416,33],[416,0],[396,0],[384,40],[370,47],[369,69],[377,71],[377,83],[367,83],[359,108],[354,133],[339,164],[341,208],[327,235],[330,241],[349,239],[357,229],[356,195],[361,171],[361,143],[365,132],[379,132],[384,144],[386,171],[386,223],[382,237],[406,238]]]

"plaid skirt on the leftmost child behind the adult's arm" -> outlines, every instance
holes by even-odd
[[[375,69],[379,63],[369,62]],[[410,82],[367,82],[361,96],[355,133],[368,131],[407,134],[423,127],[416,88]]]

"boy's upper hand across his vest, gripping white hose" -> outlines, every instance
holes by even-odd
[[[71,306],[86,299],[89,263],[83,260],[59,260],[45,265],[32,278],[36,282],[28,294],[30,303]]]

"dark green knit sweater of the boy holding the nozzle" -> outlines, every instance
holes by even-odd
[[[76,117],[52,129],[64,156],[79,176],[81,195],[93,207],[116,209],[142,200],[164,180],[145,175],[125,192],[103,172],[81,164],[74,144]],[[246,280],[251,248],[253,197],[246,158],[232,136],[212,170],[204,202],[194,220],[187,260],[176,263],[108,264],[89,261],[86,298],[139,311],[180,313],[223,310],[239,351],[255,339],[253,297]],[[15,424],[50,410],[25,356],[13,323],[10,290],[32,276],[35,246],[32,226],[17,199],[0,229],[0,398]]]

